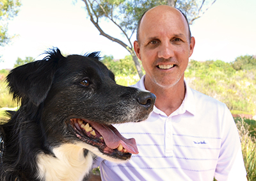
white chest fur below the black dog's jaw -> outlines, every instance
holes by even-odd
[[[91,152],[84,157],[81,146],[64,144],[52,150],[55,157],[40,153],[38,155],[38,177],[47,181],[80,181],[92,167]]]

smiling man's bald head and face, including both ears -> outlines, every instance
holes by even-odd
[[[157,84],[167,88],[183,82],[188,59],[195,39],[183,15],[170,7],[158,6],[148,11],[140,25],[140,40],[134,50],[146,71],[145,85]],[[147,88],[147,87],[146,87]]]

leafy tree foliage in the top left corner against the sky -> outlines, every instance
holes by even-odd
[[[8,35],[8,20],[12,20],[20,8],[20,0],[0,0],[0,46],[8,44],[12,36]]]

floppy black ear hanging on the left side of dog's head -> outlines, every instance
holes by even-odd
[[[60,59],[65,59],[59,49],[52,49],[49,56],[40,61],[34,61],[14,68],[6,77],[13,99],[29,98],[39,106],[51,88],[54,74]]]

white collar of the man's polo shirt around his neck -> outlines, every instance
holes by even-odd
[[[143,75],[143,77],[141,77],[140,81],[138,81],[138,83],[134,84],[132,87],[140,88],[141,90],[146,90],[144,80],[145,80],[145,75]],[[177,114],[183,114],[186,111],[188,111],[189,113],[191,113],[193,115],[195,115],[195,113],[196,113],[195,98],[194,98],[193,92],[185,80],[184,80],[184,84],[186,86],[185,98],[182,101],[182,104],[180,105],[180,107],[176,111],[174,111],[170,116],[174,116]],[[163,111],[157,109],[156,106],[154,106],[154,112],[157,114],[164,114]]]

